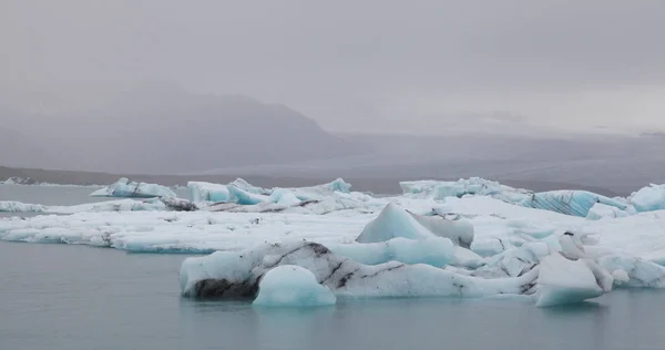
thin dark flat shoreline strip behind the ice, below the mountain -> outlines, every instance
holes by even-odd
[[[39,168],[19,168],[0,166],[0,181],[9,177],[30,177],[38,183],[62,184],[62,185],[108,185],[120,177],[130,177],[135,181],[156,183],[165,186],[186,185],[188,181],[204,181],[211,183],[225,184],[242,177],[253,185],[260,187],[299,187],[311,186],[330,182],[337,176],[330,177],[306,177],[306,176],[268,176],[268,175],[142,175],[142,174],[110,174],[98,172],[75,172],[58,169]],[[399,194],[400,181],[426,179],[426,178],[391,178],[391,177],[344,177],[346,182],[351,183],[354,191],[371,192],[376,194]],[[441,181],[456,181],[457,178],[427,178]],[[500,181],[508,186],[528,188],[534,192],[554,191],[554,189],[584,189],[594,192],[608,197],[627,195],[612,192],[607,188],[584,186],[579,184],[536,182],[536,181]],[[637,188],[635,188],[637,189]],[[1,199],[1,198],[0,198]]]

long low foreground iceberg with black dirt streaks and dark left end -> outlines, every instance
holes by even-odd
[[[316,243],[290,241],[187,258],[180,271],[181,290],[185,297],[255,298],[260,276],[280,265],[306,268],[336,296],[349,297],[521,295],[531,289],[538,276],[538,268],[519,278],[482,279],[423,264],[368,266]]]

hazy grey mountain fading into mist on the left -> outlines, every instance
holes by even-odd
[[[23,135],[13,137],[14,150],[48,150],[48,164],[31,164],[55,168],[168,174],[356,152],[352,143],[287,106],[194,94],[177,85],[139,86],[95,109],[42,110],[0,109],[11,128],[3,133]],[[21,154],[3,156],[0,164],[29,166],[21,158],[31,161]]]

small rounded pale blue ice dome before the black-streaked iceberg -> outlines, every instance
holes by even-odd
[[[337,297],[319,285],[314,274],[295,265],[269,270],[258,284],[254,305],[264,307],[315,307],[335,305]]]

